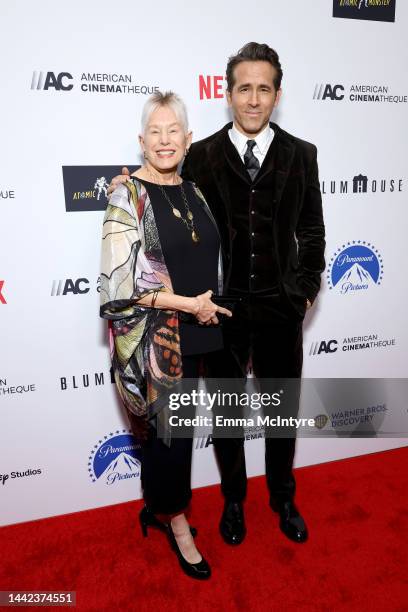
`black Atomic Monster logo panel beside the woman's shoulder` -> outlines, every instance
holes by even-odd
[[[109,183],[124,165],[62,166],[66,211],[105,210]]]

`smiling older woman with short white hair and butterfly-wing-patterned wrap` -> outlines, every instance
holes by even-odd
[[[143,533],[166,528],[182,569],[204,579],[211,570],[185,516],[192,439],[171,437],[163,415],[169,390],[182,377],[197,378],[202,356],[222,348],[217,314],[231,312],[211,300],[222,291],[215,221],[200,191],[177,173],[191,143],[177,95],[148,99],[139,140],[144,165],[115,189],[104,219],[101,316],[110,320],[119,394],[145,434]],[[181,321],[179,313],[199,324]]]

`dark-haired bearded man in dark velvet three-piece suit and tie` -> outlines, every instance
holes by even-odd
[[[233,123],[194,143],[183,176],[203,192],[224,248],[227,295],[241,298],[224,324],[225,353],[214,376],[245,376],[249,360],[259,379],[295,378],[302,371],[302,322],[320,287],[324,224],[317,150],[270,116],[281,95],[277,53],[248,43],[227,66]],[[211,375],[211,371],[210,371]],[[266,438],[270,505],[295,542],[308,532],[294,504],[295,438]],[[220,531],[245,537],[246,471],[243,440],[217,440],[225,507]]]

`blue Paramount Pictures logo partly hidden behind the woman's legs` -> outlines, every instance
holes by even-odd
[[[92,482],[105,485],[140,477],[140,444],[131,430],[111,432],[99,440],[88,457],[88,472]]]

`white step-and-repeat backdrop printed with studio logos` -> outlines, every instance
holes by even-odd
[[[99,319],[106,189],[141,163],[157,89],[184,98],[196,140],[230,120],[226,62],[251,40],[281,58],[274,120],[319,152],[327,269],[304,376],[377,381],[352,401],[333,390],[320,427],[392,409],[381,379],[406,378],[408,361],[406,3],[16,0],[0,12],[0,523],[141,497]],[[249,475],[264,472],[260,435],[246,442]],[[300,439],[296,465],[406,444]],[[194,446],[194,487],[218,482],[211,438]]]

